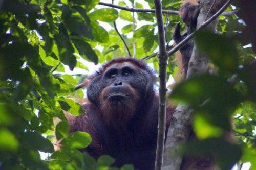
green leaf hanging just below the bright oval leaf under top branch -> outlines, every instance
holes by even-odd
[[[106,43],[109,42],[109,33],[99,25],[98,22],[92,21],[92,32],[94,39],[98,42]]]

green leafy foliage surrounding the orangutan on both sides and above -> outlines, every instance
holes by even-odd
[[[146,2],[154,8],[153,1]],[[136,58],[157,51],[158,34],[154,14],[136,13],[133,31],[131,12],[101,8],[96,6],[98,3],[98,0],[6,0],[0,3],[1,169],[116,169],[108,168],[114,161],[109,156],[101,156],[96,161],[77,150],[90,144],[92,139],[88,133],[67,134],[69,127],[63,111],[74,116],[83,114],[74,99],[84,96],[81,89],[74,91],[83,75],[71,76],[66,72],[68,68],[82,68],[87,75],[88,65],[81,61],[98,64],[127,56],[113,28],[112,22],[117,18],[126,23],[118,28],[132,54],[135,53],[133,45],[136,46]],[[136,8],[145,8],[138,1],[119,1],[121,6],[131,7],[131,3]],[[180,6],[177,0],[162,3],[168,10],[178,10]],[[243,9],[241,4],[234,5]],[[165,21],[166,17],[169,44],[172,28],[180,19],[176,15],[164,15]],[[106,30],[105,25],[111,29]],[[172,94],[173,99],[195,109],[194,130],[199,140],[191,143],[187,154],[216,152],[223,169],[237,161],[250,162],[251,169],[256,168],[253,159],[256,156],[256,89],[253,86],[256,71],[246,66],[254,59],[254,53],[252,47],[243,47],[243,42],[250,40],[238,34],[244,27],[236,16],[221,16],[218,31],[223,35],[198,33],[198,46],[210,57],[219,74],[192,78],[177,86]],[[179,77],[173,58],[168,62],[167,74]],[[156,57],[147,62],[158,71]],[[242,66],[244,69],[240,69]],[[231,117],[234,117],[232,124]],[[223,138],[231,128],[238,144]],[[54,152],[59,139],[62,139],[62,148]],[[51,156],[41,160],[39,152]],[[121,169],[132,169],[132,166]]]

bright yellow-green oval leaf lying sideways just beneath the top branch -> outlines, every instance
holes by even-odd
[[[90,19],[113,22],[118,18],[118,11],[114,8],[101,8],[89,14]]]

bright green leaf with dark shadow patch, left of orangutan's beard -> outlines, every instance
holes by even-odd
[[[72,99],[66,97],[58,97],[57,99],[61,108],[71,113],[72,115],[79,116],[81,114],[84,114],[82,106],[74,102]]]

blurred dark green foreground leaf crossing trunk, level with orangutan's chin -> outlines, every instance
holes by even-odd
[[[228,106],[238,104],[241,96],[225,79],[213,75],[195,76],[174,88],[171,98],[192,105],[200,105],[208,98],[216,98]]]

